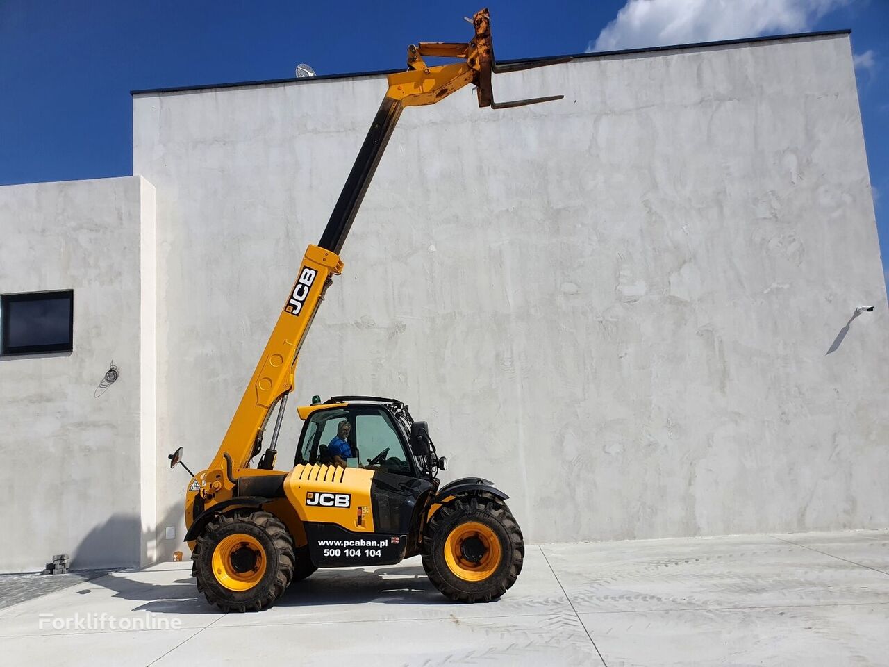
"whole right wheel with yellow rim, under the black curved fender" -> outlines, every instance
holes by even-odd
[[[502,502],[457,498],[436,511],[423,535],[423,568],[446,597],[489,602],[516,582],[525,542]]]

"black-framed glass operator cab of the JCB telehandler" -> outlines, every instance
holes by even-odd
[[[445,459],[435,457],[425,423],[416,422],[417,426],[422,425],[428,446],[412,442],[412,435],[414,440],[418,439],[414,432],[417,428],[407,406],[394,398],[333,397],[323,404],[300,406],[299,411],[305,423],[294,466],[332,464],[327,448],[338,437],[340,424],[348,422],[351,430],[347,441],[352,454],[346,460],[348,468],[410,477],[435,477],[437,470],[444,470]],[[435,461],[433,470],[429,470],[429,460]]]

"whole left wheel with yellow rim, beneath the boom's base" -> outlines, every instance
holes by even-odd
[[[197,538],[191,559],[197,590],[224,612],[271,607],[293,579],[292,537],[265,511],[214,518]]]

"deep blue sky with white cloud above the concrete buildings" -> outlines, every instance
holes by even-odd
[[[462,41],[475,2],[0,0],[0,184],[132,173],[133,89],[404,67],[417,41]],[[499,59],[852,28],[889,248],[889,1],[488,3]],[[884,271],[889,258],[883,253]]]

